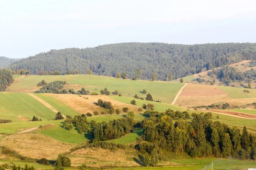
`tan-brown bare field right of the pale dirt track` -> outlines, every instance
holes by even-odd
[[[255,98],[231,99],[225,91],[216,86],[188,84],[181,92],[175,104],[184,107],[195,107],[227,102],[230,105],[240,106],[251,104],[255,100]]]

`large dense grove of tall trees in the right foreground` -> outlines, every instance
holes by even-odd
[[[192,122],[183,119],[173,121],[166,113],[152,114],[143,121],[143,140],[146,146],[138,144],[138,150],[151,153],[154,148],[168,150],[174,153],[188,153],[195,158],[229,157],[256,160],[256,136],[243,128],[242,134],[235,126],[233,128],[220,122],[212,122],[212,114],[192,113]]]

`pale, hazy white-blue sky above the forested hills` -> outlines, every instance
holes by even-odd
[[[0,56],[120,42],[256,42],[255,0],[0,0]]]

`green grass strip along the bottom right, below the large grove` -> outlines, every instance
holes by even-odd
[[[256,168],[255,161],[242,161],[235,159],[174,159],[170,160],[169,166],[164,167],[132,167],[127,170],[236,170],[241,168]],[[123,170],[115,168],[114,170]]]

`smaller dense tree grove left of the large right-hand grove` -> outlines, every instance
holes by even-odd
[[[93,127],[93,142],[107,141],[130,133],[134,128],[134,121],[131,116],[126,116],[122,119],[111,120],[108,123],[101,122]]]

